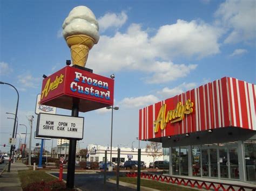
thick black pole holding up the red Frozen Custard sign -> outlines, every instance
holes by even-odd
[[[78,117],[79,108],[78,102],[76,100],[73,101],[72,108],[72,117]],[[74,179],[75,179],[75,167],[76,167],[76,139],[69,140],[69,162],[68,162],[68,172],[66,178],[66,187],[73,189],[74,187]]]

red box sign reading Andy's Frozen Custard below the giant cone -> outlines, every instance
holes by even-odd
[[[40,104],[72,109],[74,98],[79,111],[113,105],[114,80],[66,66],[43,80]]]

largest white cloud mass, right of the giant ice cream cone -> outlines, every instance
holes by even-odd
[[[154,77],[145,77],[148,83],[168,82],[185,77],[197,67],[171,62],[174,55],[201,58],[217,54],[219,34],[207,24],[178,20],[174,25],[160,27],[151,38],[139,24],[131,24],[125,33],[100,37],[89,53],[86,67],[93,67],[96,73],[137,70]]]

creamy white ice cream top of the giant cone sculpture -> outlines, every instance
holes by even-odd
[[[75,34],[85,34],[99,41],[99,24],[93,12],[86,6],[73,8],[62,25],[63,37],[66,39]]]

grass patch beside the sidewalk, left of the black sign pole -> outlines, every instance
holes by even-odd
[[[19,180],[21,180],[22,188],[26,187],[29,183],[42,181],[50,182],[56,180],[57,178],[49,175],[46,173],[49,170],[36,170],[33,169],[25,170],[25,171],[18,171]]]

